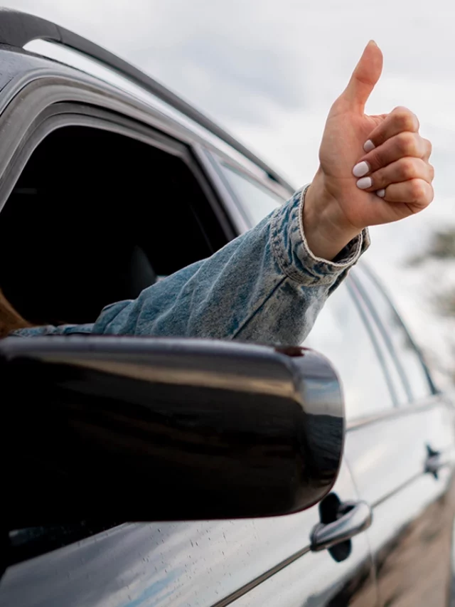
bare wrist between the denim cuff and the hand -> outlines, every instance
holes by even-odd
[[[311,253],[328,261],[362,231],[346,219],[336,198],[323,186],[321,169],[306,190],[302,223]]]

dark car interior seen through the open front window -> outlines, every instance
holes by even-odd
[[[0,289],[33,324],[93,322],[226,237],[181,157],[63,127],[31,154],[0,221]]]

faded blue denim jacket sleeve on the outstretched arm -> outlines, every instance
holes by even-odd
[[[306,188],[255,228],[141,292],[105,307],[94,324],[16,335],[94,333],[300,344],[328,295],[369,245],[368,231],[336,260],[316,258],[302,227]]]

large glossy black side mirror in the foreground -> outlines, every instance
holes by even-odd
[[[303,348],[10,337],[0,377],[10,529],[288,514],[341,463],[340,384]]]

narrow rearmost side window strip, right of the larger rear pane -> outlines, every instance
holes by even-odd
[[[387,332],[390,348],[405,375],[411,400],[415,401],[429,396],[432,394],[432,388],[429,384],[427,370],[400,316],[370,271],[360,267],[358,270],[360,272],[357,274],[357,280],[360,281],[360,287],[363,287],[364,297],[376,312],[378,321]]]

